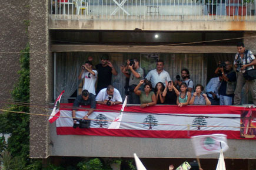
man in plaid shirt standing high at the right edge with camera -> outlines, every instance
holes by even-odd
[[[251,91],[253,103],[256,105],[255,77],[248,77],[248,72],[255,69],[255,56],[250,50],[245,50],[244,43],[242,42],[237,43],[237,50],[238,53],[235,55],[234,60],[234,65],[237,71],[237,87],[235,88],[234,105],[241,104],[241,91],[245,83]]]

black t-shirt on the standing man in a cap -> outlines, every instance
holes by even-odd
[[[97,94],[101,89],[106,88],[111,84],[112,79],[112,69],[109,66],[103,67],[102,64],[97,64],[96,69],[98,70],[98,84],[97,84]]]

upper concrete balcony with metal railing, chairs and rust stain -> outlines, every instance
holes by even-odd
[[[255,30],[255,6],[254,0],[52,0],[49,29]]]

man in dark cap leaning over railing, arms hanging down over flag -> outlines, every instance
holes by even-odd
[[[94,112],[96,108],[96,101],[95,101],[95,96],[92,93],[89,93],[88,90],[83,90],[82,94],[79,95],[73,104],[73,109],[72,109],[72,117],[75,117],[75,112],[78,110],[79,106],[87,106],[91,105],[91,109],[88,111],[88,113],[84,116],[84,118],[88,118],[88,116]],[[74,124],[77,123],[77,119],[73,118]]]

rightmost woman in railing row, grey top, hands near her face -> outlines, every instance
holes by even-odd
[[[195,86],[195,92],[193,93],[191,100],[189,101],[189,104],[210,106],[211,101],[206,94],[202,93],[203,90],[204,87],[201,84],[197,84],[197,86]]]

